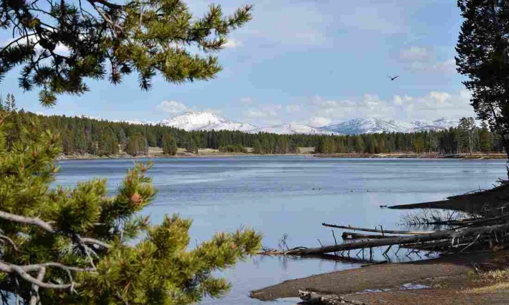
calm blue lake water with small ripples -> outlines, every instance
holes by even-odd
[[[504,160],[242,156],[154,161],[149,174],[159,193],[144,211],[153,223],[159,223],[164,214],[192,218],[192,244],[212,237],[216,231],[250,226],[263,232],[263,244],[273,248],[283,234],[288,234],[290,247],[318,246],[317,239],[332,243],[330,229],[322,227],[323,222],[402,229],[396,223],[405,212],[380,209],[380,205],[440,200],[489,188],[506,175]],[[112,193],[133,166],[133,160],[122,159],[59,163],[62,171],[56,183],[72,186],[103,177],[109,179]],[[336,230],[336,237],[340,236],[341,230]],[[378,250],[375,255],[380,255]],[[219,273],[233,283],[231,293],[219,300],[206,299],[203,304],[267,304],[250,299],[249,291],[358,266],[318,259],[256,257]]]

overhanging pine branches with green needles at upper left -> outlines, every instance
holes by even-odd
[[[221,70],[210,54],[251,19],[251,11],[244,6],[224,16],[211,5],[193,18],[182,0],[4,1],[0,25],[14,40],[1,50],[0,79],[22,66],[19,86],[41,88],[39,101],[46,106],[60,94],[87,92],[87,78],[119,84],[136,72],[144,90],[157,73],[174,84],[208,80]]]

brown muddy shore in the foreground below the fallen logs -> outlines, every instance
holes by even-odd
[[[507,304],[509,294],[497,284],[480,281],[472,264],[495,265],[509,258],[509,251],[444,255],[404,263],[375,264],[288,280],[253,290],[262,301],[298,297],[299,290],[335,294],[364,304]],[[405,289],[405,285],[424,285]],[[382,301],[380,301],[382,300]]]

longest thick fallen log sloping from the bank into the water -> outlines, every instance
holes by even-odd
[[[509,230],[509,223],[503,225],[494,225],[494,226],[486,226],[486,227],[467,227],[455,230],[445,230],[438,231],[429,234],[419,234],[413,236],[399,236],[393,238],[383,238],[383,239],[370,239],[370,240],[362,240],[359,242],[352,243],[344,243],[338,245],[329,245],[322,246],[316,248],[305,248],[305,249],[293,249],[288,251],[286,254],[288,255],[310,255],[310,254],[322,254],[322,253],[332,253],[332,252],[341,252],[341,251],[349,251],[353,249],[361,249],[361,248],[373,248],[380,246],[388,246],[395,244],[419,244],[421,242],[433,241],[433,240],[448,240],[452,239],[451,245],[454,245],[454,241],[457,238],[471,237],[483,234],[492,234],[494,232],[502,232]],[[503,237],[502,234],[499,235]]]

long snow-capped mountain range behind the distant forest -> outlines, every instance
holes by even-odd
[[[210,112],[186,112],[161,122],[124,121],[130,124],[161,124],[184,130],[239,130],[250,133],[270,132],[279,134],[361,134],[381,132],[414,132],[425,130],[444,130],[458,126],[458,120],[441,118],[435,121],[399,122],[377,118],[352,119],[338,124],[312,127],[299,124],[282,124],[273,126],[255,126],[248,123],[232,122]]]

